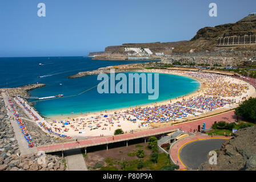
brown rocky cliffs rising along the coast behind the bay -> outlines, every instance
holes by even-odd
[[[166,42],[166,43],[127,43],[122,46],[109,46],[105,52],[94,59],[125,60],[125,48],[149,48],[153,53],[164,52],[171,55],[167,59],[163,57],[162,63],[172,63],[174,60],[181,63],[196,62],[207,64],[240,64],[245,57],[256,55],[256,45],[237,47],[216,47],[217,39],[225,36],[243,36],[256,34],[256,16],[247,16],[236,23],[222,24],[215,27],[201,28],[190,41]],[[174,49],[172,49],[174,47]],[[125,58],[126,57],[126,58]]]

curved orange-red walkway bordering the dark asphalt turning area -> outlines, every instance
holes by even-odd
[[[170,152],[170,158],[173,161],[173,163],[179,165],[179,169],[180,170],[186,170],[187,167],[185,166],[185,164],[182,163],[179,153],[181,151],[181,149],[186,145],[189,144],[191,142],[195,142],[198,140],[205,140],[205,139],[230,139],[231,137],[225,137],[225,136],[210,136],[210,135],[195,135],[192,137],[187,137],[181,140],[177,140],[177,142],[175,142],[169,152]]]

